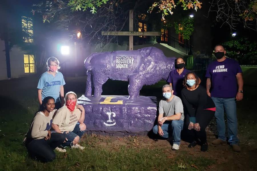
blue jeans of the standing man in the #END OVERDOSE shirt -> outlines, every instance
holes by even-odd
[[[225,109],[228,123],[228,143],[230,143],[230,145],[238,144],[235,98],[212,97],[212,100],[216,106],[215,118],[217,122],[218,139],[226,141],[226,125],[224,121]]]

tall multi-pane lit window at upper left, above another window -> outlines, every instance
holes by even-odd
[[[33,43],[33,23],[30,17],[21,17],[23,42]]]

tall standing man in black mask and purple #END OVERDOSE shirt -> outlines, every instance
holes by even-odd
[[[212,144],[226,143],[226,125],[224,110],[228,122],[228,143],[233,150],[240,152],[237,138],[236,101],[243,99],[243,75],[238,62],[226,58],[226,50],[222,45],[214,48],[216,61],[210,63],[206,71],[206,92],[212,98],[216,106],[216,122],[218,139]]]

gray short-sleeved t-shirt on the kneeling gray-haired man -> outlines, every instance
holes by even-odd
[[[159,113],[163,113],[163,117],[172,116],[175,113],[181,113],[180,120],[184,121],[184,110],[181,99],[178,96],[173,97],[171,101],[161,100],[159,103]]]

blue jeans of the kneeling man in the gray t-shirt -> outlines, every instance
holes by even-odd
[[[184,121],[182,120],[173,120],[165,121],[162,125],[163,138],[170,137],[172,133],[173,144],[180,144],[180,132],[183,129]],[[154,134],[158,134],[158,125],[155,125],[152,129]]]

